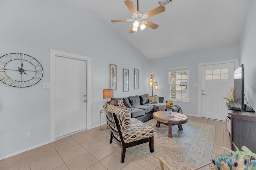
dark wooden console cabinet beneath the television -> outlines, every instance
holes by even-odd
[[[230,120],[227,117],[226,125],[230,132],[231,149],[236,151],[232,144],[234,143],[239,150],[242,146],[246,146],[256,153],[256,113],[228,109],[228,115]]]

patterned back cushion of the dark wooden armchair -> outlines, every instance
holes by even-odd
[[[120,109],[112,104],[108,105],[108,111],[116,114],[116,119],[121,128],[122,136],[129,137],[131,129],[131,116],[130,111],[125,109]]]

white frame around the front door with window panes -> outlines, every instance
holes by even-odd
[[[226,61],[214,61],[209,63],[199,63],[198,64],[198,87],[197,87],[197,103],[198,103],[198,117],[202,117],[202,109],[201,109],[201,66],[207,66],[207,65],[213,65],[213,64],[226,64],[226,63],[234,63],[234,67],[238,68],[239,65],[239,59],[234,60],[226,60]],[[235,69],[234,68],[234,69]]]

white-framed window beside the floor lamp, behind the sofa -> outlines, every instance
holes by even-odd
[[[168,100],[189,102],[189,67],[168,69]]]

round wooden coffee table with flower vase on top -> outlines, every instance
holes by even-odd
[[[182,129],[182,124],[188,122],[188,117],[181,113],[172,112],[174,117],[169,117],[167,111],[156,111],[153,113],[153,118],[157,120],[156,127],[160,124],[168,125],[168,137],[172,137],[172,125],[178,125],[179,130]]]

